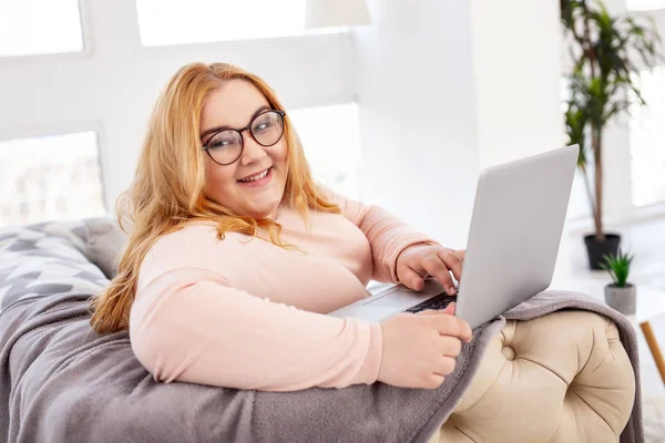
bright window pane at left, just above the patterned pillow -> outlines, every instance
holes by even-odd
[[[0,226],[104,215],[96,133],[0,142]]]

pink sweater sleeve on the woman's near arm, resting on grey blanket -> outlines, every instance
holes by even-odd
[[[157,381],[262,391],[371,384],[382,354],[379,323],[260,299],[202,268],[152,279],[132,307],[130,337]]]

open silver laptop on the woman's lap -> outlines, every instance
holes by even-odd
[[[415,291],[395,285],[329,316],[381,321],[400,312],[443,309],[477,328],[545,290],[552,282],[577,145],[481,172],[458,295],[433,278]]]

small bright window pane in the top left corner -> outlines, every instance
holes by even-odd
[[[82,50],[79,0],[0,1],[0,56]]]

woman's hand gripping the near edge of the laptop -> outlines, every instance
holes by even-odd
[[[378,380],[400,388],[436,389],[454,370],[469,323],[454,317],[454,303],[440,311],[400,313],[381,321],[383,358]]]

